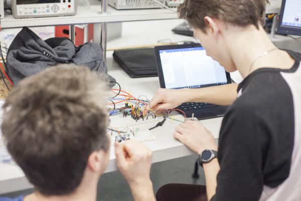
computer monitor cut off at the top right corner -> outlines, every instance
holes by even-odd
[[[277,33],[301,36],[301,1],[282,0]]]

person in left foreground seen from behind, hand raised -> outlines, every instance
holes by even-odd
[[[35,191],[0,200],[96,200],[109,160],[107,92],[102,77],[74,64],[50,67],[18,83],[3,106],[2,132]],[[134,200],[155,200],[152,152],[129,140],[116,143],[115,154]]]

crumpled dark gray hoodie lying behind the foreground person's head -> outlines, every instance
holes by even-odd
[[[8,50],[7,66],[15,84],[24,77],[60,63],[87,66],[92,71],[106,74],[111,87],[115,84],[115,79],[107,74],[101,47],[95,43],[76,47],[68,38],[50,38],[43,41],[29,28],[24,27]]]

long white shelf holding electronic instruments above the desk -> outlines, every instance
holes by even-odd
[[[128,21],[144,21],[144,20],[164,20],[177,19],[178,14],[167,9],[139,9],[139,10],[121,10],[118,11],[108,6],[108,15],[99,14],[101,11],[101,2],[91,0],[90,8],[86,6],[78,6],[75,16],[66,17],[48,17],[48,18],[30,18],[15,19],[12,15],[7,14],[1,20],[3,29],[21,28],[21,27],[40,27],[55,25],[74,25],[74,24],[94,24],[102,22],[128,22]],[[267,6],[266,13],[278,13],[281,1],[271,1]],[[176,11],[176,9],[174,9]]]

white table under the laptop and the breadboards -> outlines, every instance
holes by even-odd
[[[112,53],[112,52],[108,52]],[[111,63],[109,74],[116,78],[124,89],[130,89],[134,96],[141,93],[148,96],[153,96],[157,88],[159,88],[158,77],[150,78],[130,78],[123,70],[118,67],[111,54],[108,54],[108,64]],[[110,65],[110,64],[109,64]],[[178,119],[183,118],[178,113],[172,113]],[[219,128],[222,118],[215,118],[201,121],[204,126],[212,131],[215,138],[218,138]],[[154,124],[154,123],[153,123]],[[150,123],[149,125],[153,125]],[[145,144],[153,151],[153,162],[174,159],[193,154],[186,146],[173,138],[173,132],[176,125],[180,122],[167,120],[162,127],[152,130],[157,140],[145,142]],[[147,125],[145,125],[147,126]],[[151,126],[148,126],[149,128]],[[115,155],[113,147],[110,148],[110,161],[105,172],[117,170],[115,164]],[[27,181],[23,171],[17,165],[8,165],[0,163],[0,194],[22,189],[27,189],[32,185]]]

